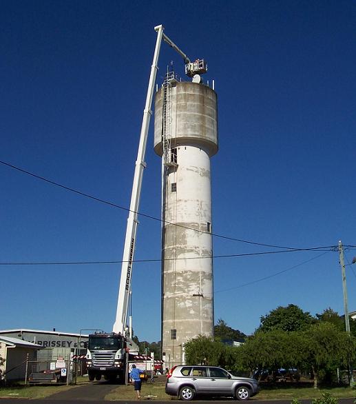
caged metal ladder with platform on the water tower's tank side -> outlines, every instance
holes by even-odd
[[[167,72],[163,81],[162,144],[163,161],[167,167],[176,167],[177,155],[171,148],[171,88],[176,83],[174,72]]]

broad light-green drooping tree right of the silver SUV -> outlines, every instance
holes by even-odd
[[[337,367],[347,369],[348,361],[355,361],[356,339],[328,321],[299,331],[258,330],[238,347],[236,357],[239,365],[251,372],[280,367],[312,370],[316,387],[333,381]]]

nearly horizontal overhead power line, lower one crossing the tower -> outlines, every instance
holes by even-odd
[[[304,250],[278,250],[278,251],[263,251],[263,252],[247,252],[242,254],[225,254],[225,255],[213,255],[213,256],[190,256],[186,258],[169,258],[169,259],[136,259],[132,263],[147,263],[147,262],[160,262],[160,261],[178,261],[178,260],[191,260],[191,259],[220,259],[220,258],[234,258],[240,256],[256,256],[256,255],[266,255],[266,254],[283,254],[286,252],[306,252],[313,251],[310,248],[304,248]],[[326,252],[331,252],[333,249],[329,250],[319,250]],[[323,255],[323,254],[322,254]],[[315,257],[317,258],[317,257]],[[127,261],[48,261],[48,262],[3,262],[0,265],[93,265],[93,264],[119,264]],[[308,262],[308,261],[306,261]]]

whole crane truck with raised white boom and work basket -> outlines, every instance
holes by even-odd
[[[147,134],[152,114],[151,105],[154,97],[154,85],[156,83],[158,70],[158,56],[162,41],[168,43],[171,48],[180,54],[185,61],[185,73],[189,77],[207,71],[205,61],[197,59],[196,61],[191,62],[189,57],[187,57],[187,55],[183,53],[180,48],[178,48],[178,46],[167,37],[167,35],[164,34],[164,28],[162,25],[156,26],[154,30],[157,32],[156,47],[149,76],[149,85],[145,109],[143,110],[140,142],[138,145],[138,154],[134,171],[134,182],[132,185],[132,196],[123,250],[121,279],[118,290],[116,321],[114,323],[113,332],[100,332],[89,335],[87,345],[87,370],[90,381],[94,381],[94,379],[100,380],[102,376],[107,380],[114,380],[117,376],[121,381],[127,380],[128,362],[134,361],[138,354],[138,346],[132,341],[132,316],[129,316],[129,327],[127,327],[127,309],[129,305],[129,296],[131,296],[132,263],[134,260],[136,230],[138,225],[138,207],[140,203],[143,170],[146,166],[145,152]],[[167,150],[167,152],[169,152],[169,150]],[[143,357],[141,356],[141,358]]]

